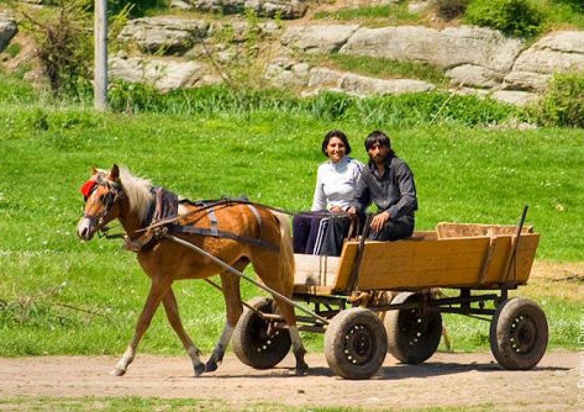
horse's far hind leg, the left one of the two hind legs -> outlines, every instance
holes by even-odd
[[[242,272],[245,266],[249,263],[249,260],[243,258],[238,260],[233,267]],[[215,346],[213,353],[207,364],[205,365],[205,371],[212,372],[215,371],[218,365],[221,365],[223,361],[223,355],[225,355],[225,350],[227,350],[227,345],[231,341],[233,336],[233,331],[237,325],[239,317],[243,313],[243,305],[241,304],[241,293],[240,293],[240,282],[239,277],[229,273],[227,271],[221,273],[221,291],[223,292],[223,297],[225,298],[225,312],[226,321],[223,327],[223,332],[221,332],[221,337]]]

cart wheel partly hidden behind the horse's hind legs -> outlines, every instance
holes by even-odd
[[[247,304],[260,312],[273,313],[272,299],[254,297]],[[233,333],[232,347],[245,365],[255,369],[269,369],[278,365],[290,351],[289,332],[273,330],[268,335],[268,326],[269,323],[254,310],[244,308]]]

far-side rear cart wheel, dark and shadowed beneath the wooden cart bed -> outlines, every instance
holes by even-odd
[[[421,302],[423,295],[405,292],[392,304]],[[389,352],[403,363],[423,363],[436,352],[442,337],[442,314],[421,308],[389,310],[385,315]]]

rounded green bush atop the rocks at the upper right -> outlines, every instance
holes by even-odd
[[[481,0],[469,4],[464,19],[507,36],[532,38],[543,30],[544,16],[528,0]]]

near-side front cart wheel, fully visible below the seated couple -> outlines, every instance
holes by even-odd
[[[346,379],[368,379],[376,374],[387,351],[383,323],[365,308],[341,310],[324,333],[328,366]]]

